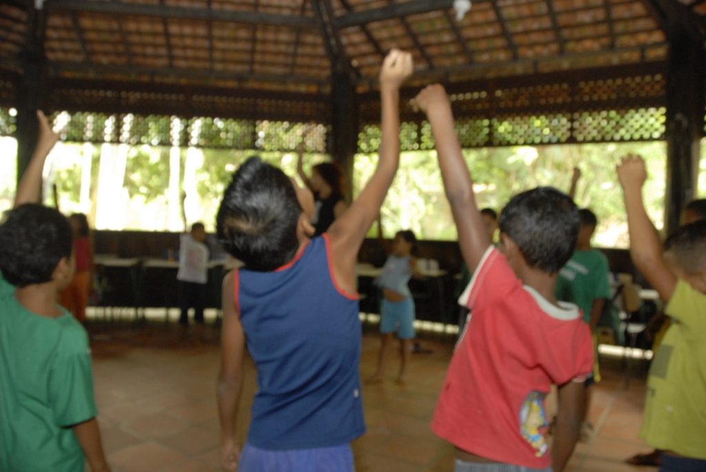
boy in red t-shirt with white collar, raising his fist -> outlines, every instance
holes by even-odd
[[[578,209],[554,188],[515,195],[491,246],[441,85],[419,92],[473,278],[460,303],[472,317],[457,344],[431,428],[457,448],[456,471],[562,471],[579,435],[592,341],[578,307],[556,301],[558,271],[575,248]],[[558,385],[556,439],[544,397]],[[507,464],[507,465],[505,465]]]

